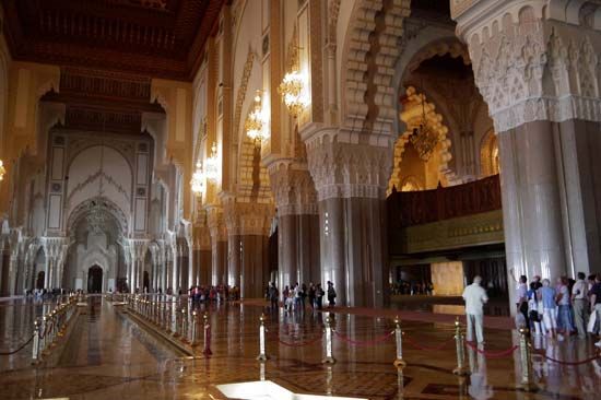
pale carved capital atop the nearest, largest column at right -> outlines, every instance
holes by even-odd
[[[495,130],[601,121],[601,8],[585,1],[455,0],[457,34]]]

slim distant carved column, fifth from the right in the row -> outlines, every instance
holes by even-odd
[[[227,284],[227,230],[220,207],[208,209],[211,232],[211,284]]]

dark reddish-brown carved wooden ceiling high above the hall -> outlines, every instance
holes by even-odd
[[[17,60],[192,79],[226,0],[2,0]]]

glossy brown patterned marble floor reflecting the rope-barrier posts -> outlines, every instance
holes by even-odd
[[[15,304],[13,304],[15,303]],[[19,342],[42,306],[16,302],[0,305],[0,349]],[[15,313],[10,308],[20,307]],[[16,308],[14,308],[16,309]],[[270,356],[258,355],[258,320],[264,309],[257,305],[211,307],[213,327],[209,358],[185,356],[156,334],[135,323],[122,307],[91,297],[89,307],[73,321],[73,330],[60,354],[48,365],[33,367],[24,355],[0,357],[0,399],[223,399],[215,385],[272,380],[294,392],[367,399],[599,399],[601,361],[562,366],[534,356],[533,370],[540,390],[517,389],[519,352],[508,357],[486,358],[468,352],[472,374],[459,378],[449,323],[403,322],[404,358],[399,372],[390,319],[352,314],[333,315],[333,366],[321,364],[323,315],[309,311],[267,314]],[[344,311],[344,310],[341,310]],[[9,316],[10,315],[10,316]],[[32,317],[25,317],[31,315]],[[511,348],[517,337],[510,330],[486,329],[486,350]],[[346,341],[345,341],[346,340]],[[350,343],[351,341],[352,343]],[[366,343],[366,342],[377,343]],[[550,357],[584,360],[594,350],[590,340],[567,338],[559,342],[539,340]],[[440,348],[434,350],[433,348]],[[425,348],[420,350],[416,348]]]

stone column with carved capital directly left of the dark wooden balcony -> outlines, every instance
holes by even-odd
[[[366,132],[357,143],[343,129],[306,134],[316,184],[322,283],[332,281],[337,303],[380,306],[388,280],[386,188],[392,164],[391,138]]]

